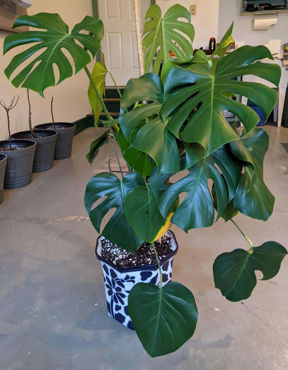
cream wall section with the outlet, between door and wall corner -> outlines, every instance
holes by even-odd
[[[190,5],[196,4],[196,14],[191,15],[191,23],[195,28],[193,47],[201,46],[208,49],[210,37],[218,41],[219,1],[221,0],[156,0],[164,16],[168,8],[180,4],[190,10]],[[229,0],[228,0],[229,1]]]

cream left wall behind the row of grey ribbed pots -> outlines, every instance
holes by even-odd
[[[62,19],[73,27],[86,15],[91,15],[90,0],[35,0],[33,6],[28,9],[28,14],[40,12],[59,13]],[[70,28],[71,29],[71,28]],[[9,32],[0,30],[0,100],[6,103],[13,95],[20,95],[17,107],[10,112],[11,132],[24,131],[28,127],[28,103],[27,92],[24,88],[16,89],[7,80],[3,71],[7,67],[16,51],[9,51],[2,57],[3,41]],[[17,48],[16,48],[17,50]],[[19,51],[18,51],[19,52]],[[54,119],[55,121],[72,122],[84,117],[91,111],[87,98],[88,80],[82,70],[76,76],[68,78],[57,87],[50,87],[44,91],[45,99],[34,91],[30,91],[32,105],[32,124],[51,122],[50,101],[54,96]],[[0,140],[8,136],[7,118],[5,110],[0,107]]]

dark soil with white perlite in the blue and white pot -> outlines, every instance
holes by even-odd
[[[173,252],[171,238],[167,235],[162,236],[161,243],[154,242],[154,245],[160,261]],[[154,250],[150,250],[150,243],[144,242],[134,255],[127,252],[127,250],[119,248],[107,239],[102,240],[101,247],[101,256],[116,266],[143,266],[157,263]]]

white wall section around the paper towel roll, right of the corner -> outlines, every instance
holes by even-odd
[[[234,20],[233,38],[239,46],[265,45],[271,53],[280,53],[288,42],[288,13],[278,14],[278,22],[267,31],[253,30],[253,16],[240,16],[240,0],[219,1],[219,35],[223,35]]]

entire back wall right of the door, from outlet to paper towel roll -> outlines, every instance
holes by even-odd
[[[253,30],[253,16],[240,16],[241,0],[156,0],[164,15],[175,3],[190,9],[196,4],[196,14],[191,15],[195,28],[194,48],[208,47],[210,37],[219,42],[234,20],[233,37],[239,46],[265,45],[271,53],[280,53],[281,45],[288,42],[288,13],[278,14],[278,23],[267,31]]]

